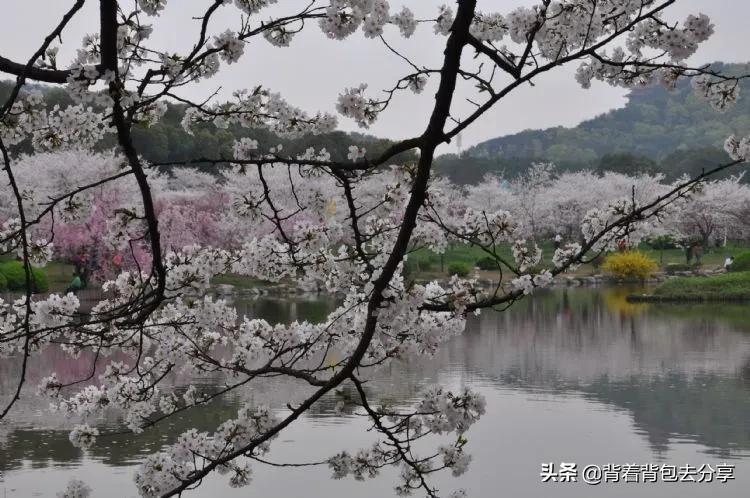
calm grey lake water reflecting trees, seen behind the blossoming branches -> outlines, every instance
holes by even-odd
[[[487,414],[467,434],[474,456],[446,491],[481,498],[747,497],[750,496],[750,312],[740,305],[628,304],[628,289],[556,289],[503,313],[472,317],[466,332],[432,359],[393,364],[374,380],[381,400],[409,403],[426,386],[467,385],[487,399]],[[240,303],[276,321],[319,319],[333,303],[261,299]],[[0,397],[12,386],[12,362],[0,364]],[[33,383],[56,370],[85,366],[46,351]],[[78,372],[80,370],[80,372]],[[220,379],[183,379],[205,389]],[[208,430],[247,402],[284,411],[304,391],[285,383],[232,394],[210,408],[145,434],[100,440],[88,451],[68,441],[70,421],[45,413],[27,394],[0,425],[0,498],[54,496],[79,478],[94,496],[130,497],[139,458],[191,427]],[[270,460],[320,461],[366,447],[366,421],[337,415],[326,398],[273,442]],[[98,421],[116,427],[116,414]],[[542,462],[734,465],[735,480],[713,483],[543,483]],[[327,468],[254,466],[250,487],[231,489],[215,476],[186,496],[388,497],[394,474],[355,482],[329,478]],[[421,496],[417,494],[416,496]]]

